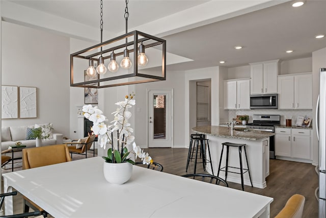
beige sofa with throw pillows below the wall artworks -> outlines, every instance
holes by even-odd
[[[27,129],[33,129],[34,126],[20,126],[20,127],[2,127],[1,128],[1,150],[7,150],[9,146],[14,146],[17,141],[25,145],[26,148],[36,147],[36,139],[26,140]],[[49,146],[51,144],[62,144],[71,140],[63,140],[63,134],[53,133],[49,138],[42,140],[42,146]],[[21,152],[15,152],[14,157],[21,157]]]

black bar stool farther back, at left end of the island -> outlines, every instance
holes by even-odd
[[[208,149],[209,159],[206,158],[206,145]],[[199,149],[199,156],[198,156],[198,149]],[[196,153],[195,158],[194,158],[194,153]],[[197,162],[197,158],[201,158],[202,162]],[[204,134],[191,134],[185,172],[187,172],[189,162],[192,161],[192,159],[195,159],[194,174],[196,173],[197,163],[202,163],[204,171],[206,171],[206,163],[209,162],[212,170],[212,175],[214,175],[213,165],[210,157],[209,143],[208,143],[208,139],[205,138]]]

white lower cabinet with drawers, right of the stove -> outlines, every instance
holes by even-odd
[[[275,133],[276,156],[290,158],[287,160],[295,161],[311,160],[310,130],[276,128]]]

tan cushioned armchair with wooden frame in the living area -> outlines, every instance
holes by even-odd
[[[86,155],[87,158],[87,151],[91,150],[92,144],[96,138],[96,135],[90,135],[88,137],[79,139],[78,141],[73,140],[72,142],[67,142],[69,152],[71,154],[82,154]],[[84,154],[85,153],[85,154]],[[93,149],[93,156],[95,156],[95,149]]]

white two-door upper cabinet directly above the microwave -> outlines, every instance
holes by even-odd
[[[251,63],[251,94],[277,93],[279,60]]]

